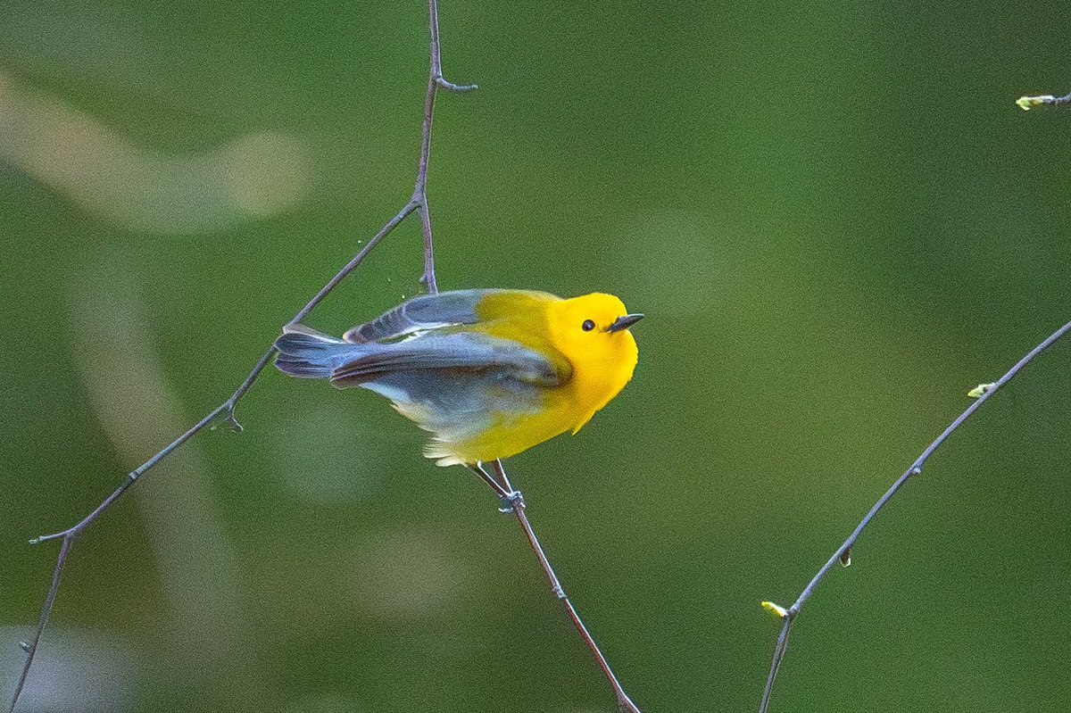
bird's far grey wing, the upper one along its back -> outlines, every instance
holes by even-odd
[[[422,294],[403,302],[371,322],[347,330],[343,338],[351,344],[366,344],[449,324],[473,324],[479,321],[476,305],[486,294],[498,291],[500,290],[455,290]]]

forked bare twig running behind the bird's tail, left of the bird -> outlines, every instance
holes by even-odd
[[[334,277],[328,280],[328,283],[320,288],[313,299],[310,300],[297,315],[295,315],[293,319],[290,320],[291,322],[304,319],[308,313],[316,307],[316,305],[318,305],[325,298],[327,298],[328,294],[331,293],[338,283],[345,279],[349,273],[356,270],[358,266],[364,261],[372,249],[379,244],[383,238],[390,234],[390,232],[394,230],[394,228],[397,227],[402,221],[413,212],[418,212],[420,214],[421,228],[424,237],[424,272],[421,279],[427,285],[429,292],[438,292],[438,286],[435,282],[435,256],[432,245],[432,223],[427,209],[427,168],[432,151],[432,123],[435,119],[435,95],[439,89],[450,91],[468,91],[476,89],[476,86],[457,86],[443,79],[439,49],[439,16],[437,0],[428,0],[427,4],[428,22],[431,28],[431,71],[428,72],[427,94],[424,101],[420,154],[417,162],[417,179],[412,197],[405,203],[405,206],[402,207],[402,210],[399,210],[394,217],[388,221],[383,227],[379,229],[379,232],[377,232],[367,242],[367,244],[365,244],[364,247],[361,248],[361,251],[358,252],[358,254],[355,255],[353,258],[335,274]],[[71,547],[73,546],[75,538],[77,538],[82,532],[86,531],[87,528],[89,528],[89,526],[96,521],[96,519],[104,514],[104,512],[110,507],[112,503],[122,497],[122,495],[126,492],[126,489],[134,485],[134,483],[136,483],[141,475],[154,468],[157,464],[160,464],[160,461],[178,450],[183,443],[193,438],[205,427],[216,423],[217,419],[222,419],[224,423],[226,423],[226,425],[233,430],[240,431],[242,426],[235,418],[235,409],[238,406],[238,401],[241,400],[241,398],[250,390],[253,382],[257,380],[257,377],[260,376],[260,373],[265,369],[265,367],[271,363],[272,356],[274,355],[275,348],[273,346],[269,348],[259,360],[257,360],[253,370],[250,371],[248,376],[245,377],[245,380],[242,381],[241,385],[239,385],[239,388],[226,401],[209,412],[205,418],[191,427],[190,430],[179,436],[175,439],[175,441],[135,468],[126,475],[125,479],[123,479],[122,484],[81,521],[71,528],[67,528],[66,530],[52,534],[41,535],[30,541],[31,544],[39,544],[61,538],[63,542],[60,546],[59,556],[56,559],[56,566],[52,568],[51,586],[48,588],[48,594],[46,595],[45,603],[41,608],[41,616],[37,619],[36,631],[29,641],[20,642],[22,650],[26,652],[26,662],[22,664],[22,670],[19,674],[18,683],[15,686],[15,693],[12,696],[11,707],[9,708],[10,713],[14,713],[15,707],[18,704],[19,696],[21,696],[22,689],[26,686],[26,681],[30,674],[30,668],[33,666],[34,656],[37,653],[37,644],[41,642],[41,637],[48,625],[48,619],[51,616],[52,608],[56,604],[56,595],[59,592],[63,566],[66,564],[67,556],[71,552]]]

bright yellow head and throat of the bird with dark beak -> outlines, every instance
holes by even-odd
[[[549,306],[552,342],[573,365],[576,386],[594,413],[632,378],[638,350],[629,328],[643,315],[630,315],[619,299],[599,292]]]

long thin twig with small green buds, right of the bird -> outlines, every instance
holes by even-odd
[[[770,673],[766,680],[766,687],[763,689],[763,699],[758,706],[759,713],[766,713],[769,708],[770,694],[773,692],[773,682],[778,678],[778,669],[781,668],[781,661],[784,658],[785,651],[788,648],[788,633],[791,628],[793,620],[796,619],[797,615],[799,615],[808,600],[814,595],[815,589],[817,589],[818,585],[820,585],[826,578],[826,575],[828,575],[836,564],[845,564],[850,561],[849,558],[851,557],[851,547],[856,544],[856,541],[859,538],[859,535],[862,534],[862,531],[866,528],[866,526],[870,525],[870,521],[874,519],[874,516],[877,515],[883,507],[885,507],[885,504],[889,502],[894,495],[896,495],[896,491],[900,490],[901,486],[903,486],[912,476],[922,472],[922,466],[925,465],[930,456],[932,456],[934,452],[940,447],[948,437],[952,435],[952,431],[962,426],[975,411],[982,407],[982,404],[989,400],[993,394],[1000,391],[1000,388],[1011,381],[1012,378],[1023,369],[1023,367],[1034,361],[1038,354],[1053,346],[1068,332],[1071,332],[1071,322],[1068,322],[1060,329],[1053,332],[1049,338],[1031,349],[1029,353],[1023,356],[1023,359],[1019,360],[1015,365],[1008,369],[1008,371],[1005,373],[1002,377],[997,379],[996,382],[985,384],[984,388],[979,388],[979,390],[977,390],[978,398],[970,406],[968,406],[963,413],[955,419],[955,421],[949,424],[948,428],[941,431],[940,436],[938,436],[933,443],[926,446],[925,451],[923,451],[922,454],[915,459],[915,462],[912,462],[907,470],[905,470],[904,473],[896,479],[892,486],[886,490],[886,494],[881,496],[881,499],[874,503],[874,506],[871,507],[869,513],[866,513],[866,516],[862,519],[862,521],[856,526],[856,529],[851,531],[851,534],[844,541],[844,544],[838,547],[836,551],[833,552],[833,556],[829,558],[829,561],[827,561],[826,564],[818,570],[818,573],[803,589],[803,592],[799,595],[799,598],[796,600],[796,603],[787,609],[778,607],[776,605],[771,605],[772,608],[781,613],[782,626],[781,634],[778,635],[778,643],[773,650],[773,661],[770,663]]]

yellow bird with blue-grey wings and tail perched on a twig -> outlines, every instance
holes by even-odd
[[[440,292],[341,339],[288,324],[275,366],[381,394],[433,434],[427,457],[473,465],[579,430],[632,378],[640,318],[612,294]]]

